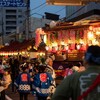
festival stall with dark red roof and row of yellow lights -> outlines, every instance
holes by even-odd
[[[13,41],[0,49],[0,56],[23,56],[34,58],[37,56],[37,50],[34,49],[34,44],[34,39],[24,40],[22,42]]]

